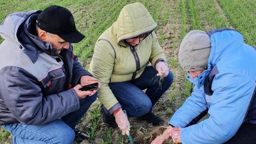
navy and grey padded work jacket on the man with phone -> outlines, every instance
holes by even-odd
[[[71,44],[60,56],[32,34],[40,13],[13,13],[0,25],[5,39],[0,45],[0,125],[42,125],[80,107],[71,87],[91,74],[77,61]]]

